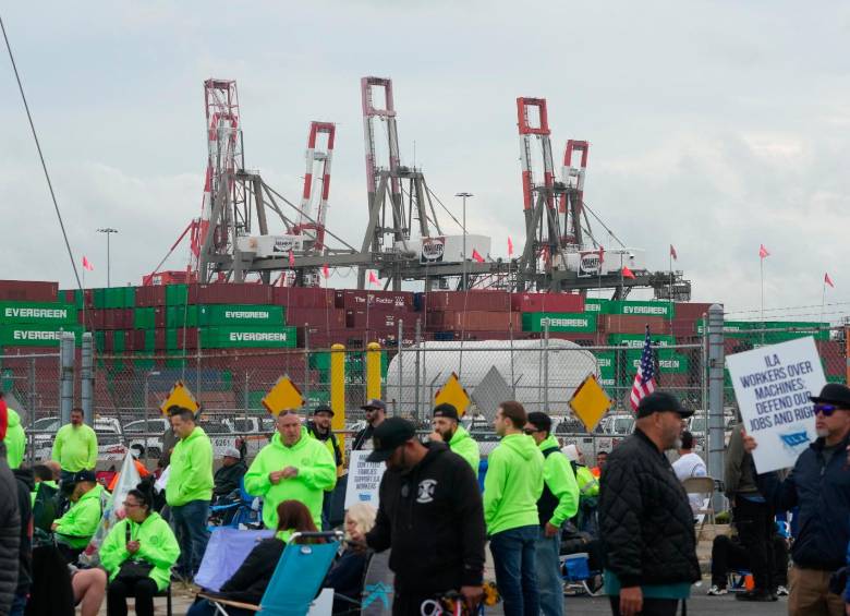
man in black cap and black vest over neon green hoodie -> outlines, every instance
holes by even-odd
[[[563,616],[563,579],[558,561],[561,526],[579,510],[579,484],[570,461],[561,454],[558,439],[551,434],[549,415],[529,413],[525,434],[534,438],[544,457],[543,495],[537,500],[539,536],[536,545],[541,613],[544,616]]]

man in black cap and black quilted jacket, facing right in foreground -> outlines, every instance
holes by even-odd
[[[702,577],[693,511],[664,455],[693,411],[667,392],[638,404],[634,434],[608,456],[599,491],[605,590],[614,616],[673,616]]]

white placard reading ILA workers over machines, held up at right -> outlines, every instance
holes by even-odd
[[[744,428],[758,444],[760,473],[793,467],[816,438],[809,396],[826,384],[814,338],[800,338],[729,355],[726,360]]]

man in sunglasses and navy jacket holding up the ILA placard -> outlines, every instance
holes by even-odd
[[[813,396],[817,440],[800,454],[785,481],[777,473],[757,476],[758,491],[777,511],[799,507],[792,547],[789,616],[839,616],[845,603],[829,592],[829,578],[845,566],[850,519],[850,388],[829,383]],[[744,435],[744,449],[756,443]]]

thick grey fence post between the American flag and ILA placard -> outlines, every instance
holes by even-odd
[[[708,474],[724,475],[724,309],[708,309]],[[716,493],[714,506],[720,508],[722,495]]]

